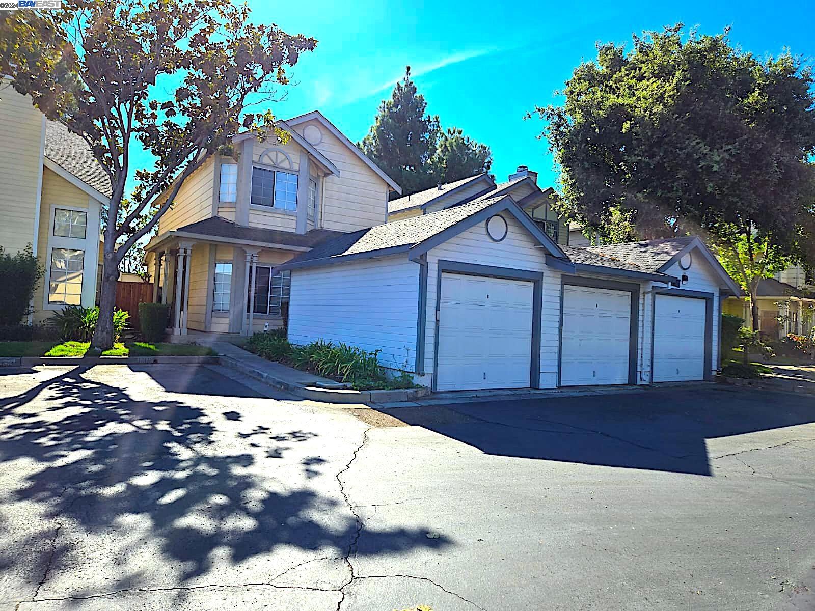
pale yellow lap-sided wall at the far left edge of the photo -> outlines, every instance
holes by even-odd
[[[34,241],[44,117],[0,79],[0,246],[16,253]]]

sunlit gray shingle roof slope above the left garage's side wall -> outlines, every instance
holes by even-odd
[[[345,257],[346,255],[370,253],[383,248],[413,246],[441,233],[447,227],[468,218],[506,196],[479,197],[467,204],[438,210],[431,214],[404,218],[401,221],[377,225],[344,234],[333,240],[317,244],[307,253],[302,253],[288,263],[301,263],[315,259]]]

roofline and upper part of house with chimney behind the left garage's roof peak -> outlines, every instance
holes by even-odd
[[[489,174],[476,174],[391,200],[388,202],[388,222],[452,208],[487,194],[509,195],[557,244],[570,245],[566,222],[551,207],[554,189],[538,187],[538,173],[526,165],[519,165],[506,182],[496,184]]]

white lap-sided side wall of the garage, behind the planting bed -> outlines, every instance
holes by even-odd
[[[403,256],[293,270],[289,341],[381,349],[382,365],[413,371],[418,294],[419,266]]]

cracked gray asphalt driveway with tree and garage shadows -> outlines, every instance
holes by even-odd
[[[0,609],[813,609],[815,398],[0,375]]]

